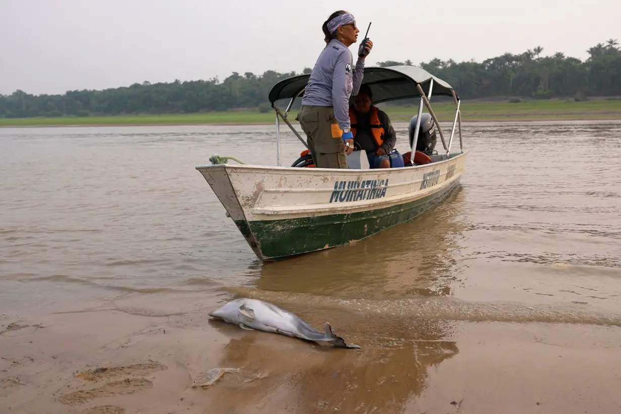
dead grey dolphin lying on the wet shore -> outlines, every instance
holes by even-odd
[[[328,342],[338,348],[360,348],[355,344],[347,344],[343,338],[334,335],[330,323],[325,323],[325,333],[322,333],[288,310],[263,300],[246,297],[235,299],[212,310],[209,316],[234,323],[246,330],[256,329],[307,341]]]

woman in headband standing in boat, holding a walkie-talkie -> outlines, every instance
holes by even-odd
[[[322,30],[325,48],[312,69],[297,120],[306,133],[306,142],[317,168],[347,168],[345,154],[353,151],[349,99],[358,94],[365,71],[365,57],[373,42],[365,39],[358,48],[358,61],[348,49],[358,40],[356,20],[340,10],[325,20]]]

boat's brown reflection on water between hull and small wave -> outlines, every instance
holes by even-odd
[[[339,299],[450,295],[461,272],[459,243],[468,227],[458,187],[427,214],[348,246],[261,263],[260,291]]]

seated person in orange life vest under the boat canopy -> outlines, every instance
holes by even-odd
[[[350,107],[353,143],[363,151],[370,168],[390,168],[388,154],[397,142],[397,134],[386,112],[373,106],[373,94],[368,85],[360,86]]]

